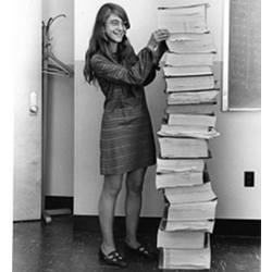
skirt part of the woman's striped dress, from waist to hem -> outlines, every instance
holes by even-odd
[[[122,174],[156,163],[152,125],[145,104],[104,111],[100,173]]]

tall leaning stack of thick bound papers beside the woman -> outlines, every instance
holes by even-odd
[[[212,72],[215,47],[201,0],[159,0],[159,28],[168,28],[161,66],[166,108],[158,132],[156,186],[165,208],[158,230],[160,269],[210,269],[210,234],[217,196],[206,160],[215,129],[219,89]]]

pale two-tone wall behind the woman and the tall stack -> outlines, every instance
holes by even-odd
[[[107,1],[75,2],[75,214],[97,214],[97,202],[102,185],[99,175],[99,132],[103,96],[95,86],[83,78],[84,54],[96,13]],[[157,25],[157,1],[114,1],[128,13],[132,28],[127,36],[138,51],[144,47]],[[223,45],[223,1],[210,0],[208,24],[214,35],[218,48],[215,74],[221,81]],[[139,20],[139,14],[141,20]],[[160,127],[165,97],[164,82],[159,73],[156,81],[146,88],[153,131]],[[260,113],[221,112],[218,109],[218,129],[221,137],[210,140],[213,159],[209,171],[213,188],[219,197],[217,218],[260,219]],[[158,148],[158,143],[157,143]],[[245,188],[244,171],[256,172],[256,186]],[[116,214],[123,213],[124,190],[122,190]],[[154,188],[154,168],[146,177],[141,215],[160,217],[163,199]]]

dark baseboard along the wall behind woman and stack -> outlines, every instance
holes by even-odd
[[[139,233],[156,234],[160,224],[160,218],[140,218]],[[74,215],[74,227],[78,231],[99,232],[99,219],[97,215]],[[114,218],[114,232],[125,232],[125,218]],[[217,219],[214,225],[215,235],[226,236],[261,236],[260,220],[232,220]]]

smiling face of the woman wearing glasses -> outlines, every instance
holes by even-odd
[[[106,21],[106,34],[113,42],[121,42],[126,33],[126,27],[121,17],[111,14]]]

